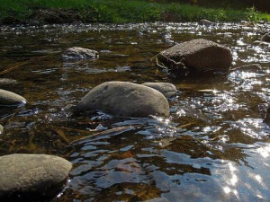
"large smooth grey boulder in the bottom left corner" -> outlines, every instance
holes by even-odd
[[[71,162],[47,154],[0,157],[0,200],[32,201],[53,198],[65,184]]]

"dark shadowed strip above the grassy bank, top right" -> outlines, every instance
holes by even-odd
[[[159,3],[197,4],[205,7],[245,9],[255,7],[258,11],[270,13],[270,0],[149,0]]]

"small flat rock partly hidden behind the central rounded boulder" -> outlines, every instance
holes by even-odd
[[[174,97],[177,93],[175,85],[172,83],[141,83],[141,84],[156,89],[158,92],[164,94],[166,98]]]

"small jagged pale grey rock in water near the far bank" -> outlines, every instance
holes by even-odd
[[[62,55],[63,59],[95,59],[98,58],[98,52],[93,49],[73,47],[68,48]]]

